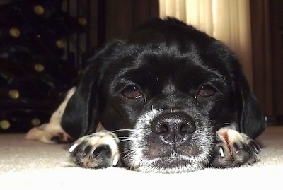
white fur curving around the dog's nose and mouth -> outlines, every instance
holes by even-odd
[[[139,172],[161,172],[161,173],[172,173],[172,172],[188,172],[194,170],[200,170],[204,168],[205,164],[209,162],[209,151],[211,147],[207,145],[208,143],[212,144],[212,137],[209,135],[205,135],[211,133],[206,131],[209,129],[209,124],[203,123],[200,124],[203,127],[197,127],[197,131],[195,131],[196,135],[192,135],[192,141],[197,141],[197,145],[199,146],[202,152],[198,155],[180,155],[177,153],[172,153],[171,157],[168,158],[154,158],[149,159],[147,155],[144,154],[144,150],[148,148],[148,144],[146,144],[146,137],[152,134],[151,131],[151,122],[158,114],[163,113],[163,110],[151,109],[149,112],[146,112],[143,116],[139,118],[136,126],[134,126],[134,131],[132,131],[129,135],[130,139],[134,139],[130,141],[131,143],[128,147],[130,150],[126,150],[127,152],[131,152],[127,155],[127,165],[132,170],[137,170]],[[204,133],[204,135],[202,135]],[[163,162],[164,160],[178,159],[178,160],[187,160],[187,165],[182,165],[180,167],[156,167],[156,162]]]

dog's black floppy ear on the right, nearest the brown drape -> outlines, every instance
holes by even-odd
[[[265,130],[265,118],[242,71],[236,73],[236,91],[238,97],[241,97],[237,101],[240,108],[241,132],[246,133],[250,138],[256,138]]]

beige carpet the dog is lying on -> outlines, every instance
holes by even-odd
[[[111,167],[88,170],[69,162],[66,145],[0,135],[0,189],[283,189],[283,126],[258,138],[260,162],[233,169],[187,174],[144,174]]]

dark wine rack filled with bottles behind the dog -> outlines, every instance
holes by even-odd
[[[77,2],[77,1],[76,1]],[[0,5],[0,133],[47,122],[88,56],[88,17],[71,1],[13,0]],[[74,12],[74,11],[73,11]],[[83,43],[82,43],[83,42]]]

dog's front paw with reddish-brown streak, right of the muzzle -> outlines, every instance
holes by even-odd
[[[260,146],[244,133],[222,128],[216,132],[219,143],[214,148],[212,167],[239,167],[258,162]]]

